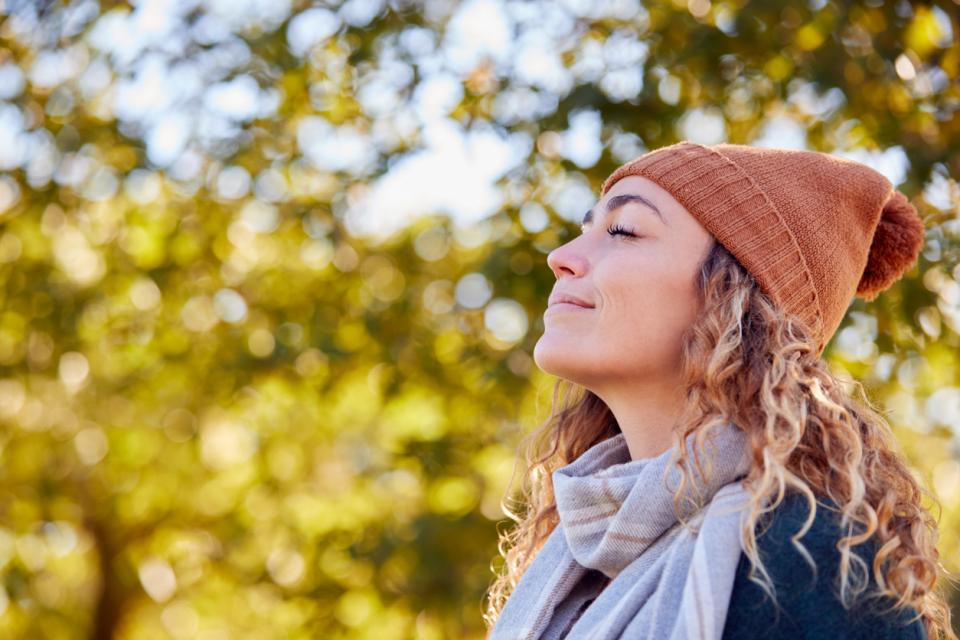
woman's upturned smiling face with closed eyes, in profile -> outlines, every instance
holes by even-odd
[[[534,361],[601,396],[676,379],[681,335],[700,309],[697,269],[713,236],[641,176],[614,183],[585,220],[580,235],[547,256],[557,282]],[[563,295],[589,307],[555,304]]]

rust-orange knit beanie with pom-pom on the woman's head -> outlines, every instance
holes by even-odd
[[[618,167],[652,180],[806,323],[817,355],[854,296],[873,300],[917,261],[924,225],[874,169],[819,151],[702,145],[655,149]]]

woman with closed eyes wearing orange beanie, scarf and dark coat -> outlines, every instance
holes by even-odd
[[[614,171],[547,259],[559,379],[489,637],[955,640],[929,493],[820,358],[922,243],[883,175],[823,153],[684,141]]]

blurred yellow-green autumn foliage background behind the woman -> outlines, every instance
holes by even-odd
[[[546,254],[681,139],[851,157],[920,210],[825,357],[960,570],[958,16],[0,0],[0,636],[481,638]]]

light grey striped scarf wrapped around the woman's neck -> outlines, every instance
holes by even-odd
[[[693,434],[686,446],[692,456]],[[706,507],[681,500],[677,508],[697,533],[674,513],[675,465],[664,485],[671,453],[632,460],[618,433],[553,472],[560,524],[521,576],[490,640],[719,640],[749,497],[740,481],[751,464],[746,434],[730,422],[708,434],[700,456],[712,464],[708,482],[691,465]],[[684,495],[698,494],[687,486]],[[610,582],[576,619],[584,585],[596,583],[587,574],[597,571]]]

